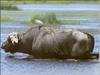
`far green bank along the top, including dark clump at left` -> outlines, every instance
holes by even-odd
[[[1,0],[1,10],[19,10],[16,5],[25,4],[100,4],[100,0]]]

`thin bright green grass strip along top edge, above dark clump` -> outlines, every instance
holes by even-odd
[[[1,0],[1,4],[72,4],[72,3],[100,3],[99,0]]]

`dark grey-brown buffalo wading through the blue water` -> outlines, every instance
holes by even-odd
[[[93,51],[94,37],[75,29],[35,26],[26,32],[12,32],[2,44],[5,52],[27,53],[35,58],[85,56]]]

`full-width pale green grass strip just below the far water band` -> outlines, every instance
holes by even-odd
[[[44,15],[46,13],[52,13],[50,11],[1,11],[1,16],[19,16],[32,18],[35,15]],[[97,18],[100,16],[99,11],[78,11],[78,12],[53,12],[57,15],[57,18]],[[25,16],[23,16],[25,15]]]

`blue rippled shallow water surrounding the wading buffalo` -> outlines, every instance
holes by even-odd
[[[57,7],[55,8],[57,9]],[[100,54],[100,22],[96,20],[81,26],[62,25],[62,27],[92,32],[95,37],[94,52]],[[1,43],[6,40],[8,33],[13,31],[22,32],[29,28],[30,26],[25,24],[2,22]],[[100,75],[100,60],[77,62],[75,60],[24,59],[27,56],[27,54],[22,53],[11,56],[1,50],[1,75]]]

